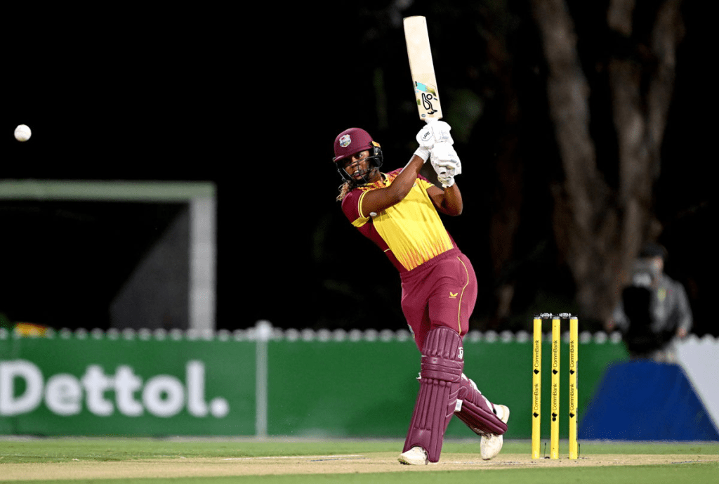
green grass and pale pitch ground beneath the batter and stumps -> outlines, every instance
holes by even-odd
[[[502,483],[718,482],[719,442],[581,442],[580,459],[531,460],[506,442],[482,461],[478,442],[446,442],[438,465],[397,462],[401,441],[243,439],[0,440],[0,481],[44,483]]]

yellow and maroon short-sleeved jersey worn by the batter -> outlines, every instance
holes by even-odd
[[[401,273],[455,246],[427,193],[427,188],[433,185],[422,175],[418,175],[408,195],[398,204],[378,214],[369,214],[362,207],[368,191],[389,186],[400,171],[383,173],[381,181],[347,193],[342,200],[342,211],[359,232],[385,252]]]

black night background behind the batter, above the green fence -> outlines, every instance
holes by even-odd
[[[582,62],[590,64],[604,48],[597,19],[605,4],[578,10],[569,3]],[[358,126],[383,145],[384,168],[410,157],[421,122],[401,18],[416,14],[428,17],[445,119],[464,166],[457,178],[464,214],[446,226],[480,280],[474,328],[528,329],[534,312],[574,310],[574,286],[551,230],[549,192],[562,166],[527,1],[117,8],[53,6],[4,16],[0,177],[214,182],[216,327],[244,328],[258,319],[285,328],[406,327],[396,271],[334,201],[340,180],[331,145],[338,132]],[[695,332],[719,334],[708,302],[715,289],[708,227],[716,222],[705,124],[709,34],[698,2],[684,2],[682,14],[654,210],[669,250],[667,272],[687,286]],[[506,134],[506,80],[487,53],[487,39],[498,33],[518,93],[518,176],[525,186],[513,260],[499,277],[487,241],[498,183],[493,163]],[[592,72],[587,68],[590,82]],[[608,116],[601,88],[592,96],[592,119]],[[475,124],[453,124],[462,109],[475,113]],[[14,140],[17,124],[32,128],[29,142]],[[597,135],[597,151],[612,136]],[[22,204],[0,203],[4,217],[27,214],[22,233],[0,227],[0,312],[58,327],[106,327],[106,303],[132,258],[173,214],[172,206],[120,214],[122,207],[86,204],[41,206],[31,216]],[[127,224],[123,239],[84,244],[86,258],[46,256],[74,254],[78,234],[87,241],[116,219],[137,223]],[[516,292],[511,316],[497,321],[492,294],[503,277],[516,280]],[[586,329],[599,329],[587,321]]]

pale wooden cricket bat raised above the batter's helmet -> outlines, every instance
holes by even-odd
[[[427,20],[422,16],[406,17],[404,29],[419,119],[426,122],[441,119],[442,108],[439,104],[437,81],[434,78]]]

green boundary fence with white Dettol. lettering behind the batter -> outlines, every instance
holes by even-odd
[[[527,336],[464,339],[464,373],[491,401],[510,407],[510,439],[531,433]],[[581,340],[580,420],[605,367],[627,359],[616,339],[582,334]],[[549,342],[544,351],[549,355]],[[30,338],[3,330],[0,434],[403,437],[419,357],[407,332],[280,332],[260,324],[234,333],[78,331]],[[548,366],[544,377],[548,405]],[[564,373],[565,437],[567,381]],[[447,431],[472,435],[458,419]]]

